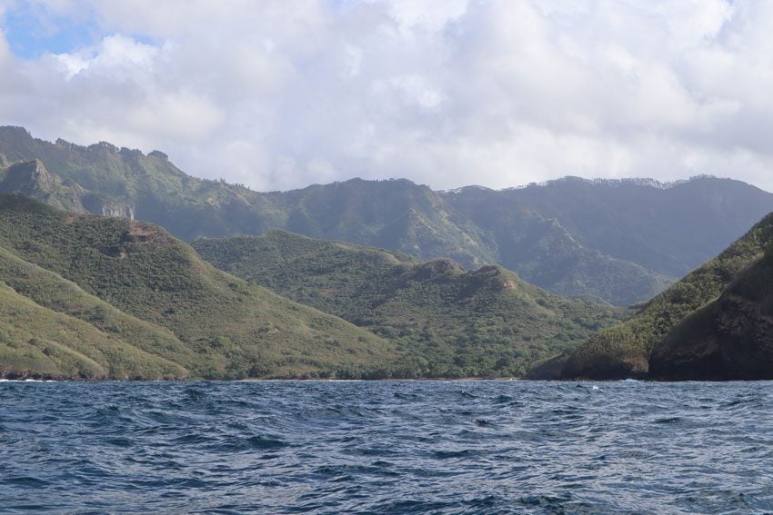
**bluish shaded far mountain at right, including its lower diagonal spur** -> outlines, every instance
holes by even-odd
[[[674,184],[567,177],[444,198],[491,229],[499,262],[527,281],[618,304],[651,298],[773,211],[770,193],[713,177]]]

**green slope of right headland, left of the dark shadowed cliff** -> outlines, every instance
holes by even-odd
[[[603,330],[568,358],[565,378],[614,379],[645,376],[650,352],[686,317],[715,300],[733,279],[755,262],[773,241],[773,214],[716,258],[648,302],[627,322]]]

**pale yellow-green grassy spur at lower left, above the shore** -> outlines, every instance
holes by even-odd
[[[37,371],[52,376],[86,378],[181,378],[188,373],[185,367],[196,361],[194,353],[171,332],[120,312],[107,302],[84,292],[74,282],[31,262],[25,262],[4,247],[0,247],[0,282],[6,288],[12,288],[4,294],[4,309],[11,310],[6,312],[6,334],[22,331],[29,336],[15,338],[18,344],[15,348],[23,349],[24,352],[31,351],[27,348],[30,340],[35,338],[39,341],[43,335],[56,340],[56,336],[61,336],[65,338],[65,347],[78,354],[85,353],[89,360],[95,361],[100,367],[96,376],[89,367],[77,373],[67,366],[61,370],[52,369],[51,366],[46,366],[43,371],[39,367],[26,369],[33,371],[33,375]],[[25,306],[25,312],[29,315],[26,316],[26,322],[22,323],[24,319],[18,318],[18,309],[11,308],[15,303]],[[75,335],[78,336],[75,337],[62,326],[77,328]],[[14,327],[15,330],[12,329]],[[105,345],[110,349],[103,352]],[[116,354],[115,349],[112,349],[114,347],[125,352],[125,355]],[[156,361],[165,365],[162,370],[144,365],[146,354],[155,355]],[[173,365],[171,361],[180,365]],[[5,363],[6,374],[25,370],[8,368],[9,362],[0,361],[0,368]]]

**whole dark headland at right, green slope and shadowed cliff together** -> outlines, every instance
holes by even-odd
[[[768,216],[631,320],[598,332],[569,356],[559,377],[773,379],[771,227]],[[755,252],[766,243],[765,253]],[[530,377],[552,379],[555,371],[535,367]]]

